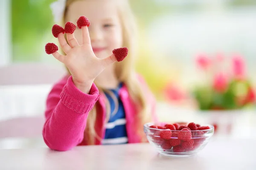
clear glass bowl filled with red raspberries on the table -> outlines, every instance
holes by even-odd
[[[154,125],[146,123],[148,142],[166,156],[192,156],[202,150],[214,133],[214,126],[194,122]]]

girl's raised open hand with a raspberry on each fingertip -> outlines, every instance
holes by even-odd
[[[89,93],[94,79],[113,62],[122,61],[128,54],[127,48],[117,48],[113,50],[110,56],[99,59],[93,53],[91,46],[88,26],[89,20],[86,17],[79,17],[77,25],[81,28],[82,43],[79,44],[73,34],[76,26],[73,23],[67,22],[65,28],[54,25],[52,34],[58,37],[58,42],[66,56],[58,53],[58,46],[54,43],[47,43],[45,51],[47,54],[52,54],[60,62],[64,63],[73,77],[73,82],[77,88],[84,93]],[[67,41],[64,38],[64,32],[67,34]]]

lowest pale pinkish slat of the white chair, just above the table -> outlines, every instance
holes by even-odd
[[[0,121],[0,149],[47,147],[42,137],[43,116]]]

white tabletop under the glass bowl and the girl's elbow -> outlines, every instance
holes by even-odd
[[[150,144],[0,150],[1,170],[255,170],[256,139],[214,139],[198,155],[161,156]]]

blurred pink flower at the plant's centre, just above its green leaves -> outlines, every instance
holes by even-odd
[[[218,92],[224,92],[227,89],[228,80],[223,73],[218,73],[215,75],[213,80],[213,89]]]

